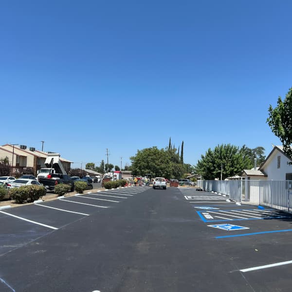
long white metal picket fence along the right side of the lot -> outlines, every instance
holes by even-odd
[[[234,201],[292,211],[292,181],[198,181],[197,185]]]

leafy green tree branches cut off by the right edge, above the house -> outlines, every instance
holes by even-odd
[[[292,157],[292,88],[289,89],[284,101],[278,97],[277,106],[269,107],[267,123],[277,136],[286,155]]]

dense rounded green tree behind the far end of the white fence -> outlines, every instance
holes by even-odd
[[[230,176],[240,175],[242,170],[246,168],[237,146],[221,144],[216,146],[214,150],[209,148],[205,155],[201,155],[201,160],[196,165],[196,172],[201,174],[205,180],[220,179],[221,167],[222,180]]]

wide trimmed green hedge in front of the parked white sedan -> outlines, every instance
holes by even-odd
[[[24,185],[9,190],[10,198],[20,204],[25,201],[31,203],[45,194],[46,188],[40,185]]]

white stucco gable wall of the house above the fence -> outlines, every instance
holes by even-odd
[[[280,168],[277,168],[278,156],[281,157]],[[291,160],[276,149],[263,169],[263,171],[268,175],[267,179],[269,181],[285,181],[286,173],[292,173],[292,165],[289,165],[289,162],[291,162]]]

